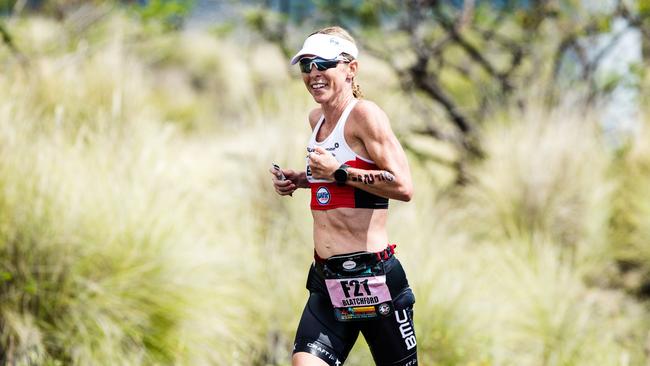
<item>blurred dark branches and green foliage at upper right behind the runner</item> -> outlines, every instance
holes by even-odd
[[[531,85],[549,108],[556,106],[568,86],[574,103],[590,108],[620,87],[637,85],[627,77],[606,75],[607,80],[599,80],[601,65],[614,49],[602,44],[618,42],[622,33],[614,32],[617,19],[648,33],[643,11],[631,8],[636,2],[616,6],[576,0],[313,3],[312,28],[339,24],[362,35],[357,41],[363,54],[388,60],[402,89],[426,96],[445,114],[429,123],[426,129],[431,135],[449,136],[451,129],[456,135],[451,140],[472,157],[482,155],[476,142],[480,136],[475,135],[480,126],[504,107],[520,107],[521,95],[529,93]],[[287,12],[291,15],[291,9]],[[304,17],[298,23],[304,28]],[[268,40],[287,49],[288,32],[270,34]]]

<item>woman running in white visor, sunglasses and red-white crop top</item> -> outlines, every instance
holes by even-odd
[[[278,194],[311,189],[314,263],[293,365],[342,365],[359,332],[377,365],[417,364],[415,297],[386,232],[388,200],[411,199],[411,173],[386,113],[360,99],[357,57],[349,33],[328,27],[291,59],[320,105],[305,171],[271,169]]]

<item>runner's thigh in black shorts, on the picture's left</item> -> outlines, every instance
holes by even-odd
[[[300,318],[293,353],[307,352],[328,365],[340,366],[358,335],[358,324],[337,321],[329,298],[312,292]]]

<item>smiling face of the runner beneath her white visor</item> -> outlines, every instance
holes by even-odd
[[[305,58],[313,56],[306,55]],[[352,94],[352,79],[356,74],[357,61],[339,62],[336,67],[318,70],[312,65],[309,73],[302,73],[307,90],[319,104],[347,99]]]

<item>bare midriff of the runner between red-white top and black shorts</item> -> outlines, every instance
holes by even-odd
[[[388,245],[388,210],[336,208],[311,211],[314,247],[321,258],[360,251],[379,252]]]

